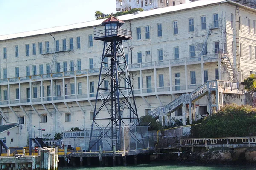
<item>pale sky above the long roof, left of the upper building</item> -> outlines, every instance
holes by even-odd
[[[0,0],[0,35],[95,20],[115,13],[116,0]]]

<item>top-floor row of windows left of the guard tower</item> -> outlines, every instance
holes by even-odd
[[[51,51],[49,41],[45,42],[45,50],[43,50],[43,42],[38,42],[38,53],[39,54],[47,54],[47,53],[52,53],[52,52],[59,52],[59,51],[67,51],[67,50],[74,50],[74,44],[73,44],[73,38],[69,38],[69,46],[67,46],[66,39],[62,39],[62,46],[60,47],[59,40],[55,40],[55,51]],[[88,45],[89,48],[93,47],[93,35],[88,35]],[[15,57],[19,57],[19,46],[15,45]],[[80,37],[76,37],[76,48],[80,49],[81,48],[81,42],[80,42]],[[36,44],[32,43],[32,55],[36,55]],[[30,55],[30,47],[29,44],[25,45],[25,56]],[[6,47],[3,47],[3,58],[7,58],[7,50]]]

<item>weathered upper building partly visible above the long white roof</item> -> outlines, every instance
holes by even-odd
[[[116,0],[116,11],[130,11],[134,8],[143,8],[144,11],[148,11],[183,3],[185,0]]]

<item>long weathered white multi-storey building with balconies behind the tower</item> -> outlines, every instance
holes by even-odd
[[[122,28],[132,31],[132,40],[122,43],[139,117],[160,107],[165,114],[158,118],[169,125],[172,118],[192,121],[225,103],[244,103],[237,82],[256,71],[255,18],[255,9],[228,0],[119,16]],[[28,137],[90,130],[104,45],[94,31],[104,29],[102,21],[0,36],[0,123],[19,124],[20,139],[13,140],[20,146]],[[209,91],[216,83],[223,87],[217,100]],[[192,101],[191,92],[208,95]],[[69,144],[80,146],[76,135],[89,138],[87,131],[64,133],[72,137]]]

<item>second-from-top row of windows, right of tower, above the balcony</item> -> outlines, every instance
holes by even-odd
[[[203,48],[203,43],[201,44],[201,48]],[[219,42],[214,42],[214,51],[217,54],[220,51],[220,43]],[[150,55],[150,51],[146,51],[146,56]],[[179,47],[174,47],[173,48],[173,54],[174,54],[174,59],[179,58]],[[204,50],[202,50],[202,55],[207,55],[207,45],[204,46]],[[158,49],[157,50],[157,56],[158,60],[162,61],[163,60],[163,49]],[[195,57],[195,45],[189,45],[189,56],[190,57]],[[142,53],[137,52],[137,63],[142,63]]]

